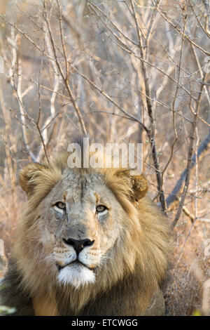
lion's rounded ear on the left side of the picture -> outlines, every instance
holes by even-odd
[[[25,166],[19,174],[19,182],[22,190],[27,193],[27,196],[30,197],[34,192],[34,187],[36,187],[38,178],[41,176],[41,173],[48,169],[47,166],[31,163]]]

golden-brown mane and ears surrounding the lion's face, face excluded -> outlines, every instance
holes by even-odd
[[[15,305],[17,315],[145,315],[165,279],[169,256],[166,219],[146,194],[146,179],[119,169],[76,170],[103,176],[127,218],[120,223],[120,237],[109,250],[109,260],[98,270],[99,280],[79,289],[69,285],[58,290],[50,272],[55,266],[50,260],[45,263],[48,251],[43,249],[36,209],[65,168],[66,156],[62,156],[50,166],[29,164],[20,173],[20,185],[29,199],[5,277],[8,285],[1,292],[3,304]],[[157,305],[151,313],[162,314],[162,307]]]

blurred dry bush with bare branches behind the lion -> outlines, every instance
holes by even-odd
[[[208,315],[209,1],[0,0],[0,14],[0,275],[25,164],[77,134],[143,143],[151,199],[172,228],[167,314]]]

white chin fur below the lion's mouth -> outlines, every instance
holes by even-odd
[[[95,275],[83,265],[70,265],[59,271],[57,279],[62,284],[71,284],[78,289],[85,284],[94,283]]]

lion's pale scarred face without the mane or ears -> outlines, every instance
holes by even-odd
[[[64,171],[38,213],[46,262],[54,261],[57,281],[76,287],[94,282],[120,236],[125,213],[104,178],[99,173]]]

